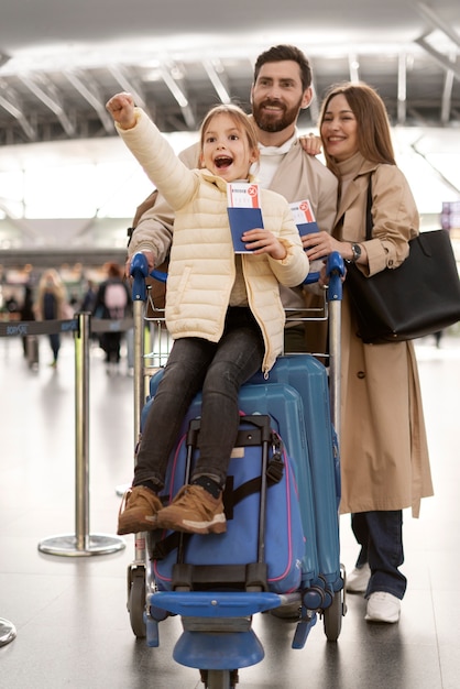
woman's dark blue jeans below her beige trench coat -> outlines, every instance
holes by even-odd
[[[402,599],[407,586],[398,570],[404,562],[403,512],[357,512],[351,515],[351,528],[361,546],[357,567],[368,562],[371,568],[365,597],[386,591]]]

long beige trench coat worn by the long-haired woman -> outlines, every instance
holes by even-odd
[[[362,243],[372,173],[373,239],[369,274],[397,266],[418,214],[407,182],[392,165],[360,157],[339,205],[338,239]],[[428,447],[413,342],[364,344],[355,335],[347,281],[342,302],[341,513],[412,507],[432,495]]]

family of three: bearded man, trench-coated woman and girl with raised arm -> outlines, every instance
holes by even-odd
[[[338,251],[365,275],[397,267],[419,231],[416,205],[398,168],[383,100],[369,85],[338,84],[325,95],[318,130],[298,136],[297,119],[313,98],[311,68],[302,51],[276,45],[259,55],[252,112],[220,105],[205,117],[200,140],[176,156],[130,94],[107,103],[127,146],[158,189],[129,245],[151,269],[167,256],[166,324],[174,344],[123,496],[118,533],[155,528],[226,531],[222,490],[239,426],[240,386],[256,371],[270,376],[283,351],[306,351],[305,327],[285,322],[303,308],[309,263]],[[371,240],[365,209],[372,178]],[[248,253],[234,253],[227,185],[256,182],[263,228],[245,232]],[[289,204],[309,199],[318,232],[299,237]],[[327,278],[320,277],[326,287]],[[342,302],[341,503],[360,551],[347,579],[362,592],[366,620],[394,623],[407,581],[403,510],[419,514],[432,494],[420,385],[410,341],[365,344]],[[307,341],[308,342],[308,341]],[[163,506],[169,453],[194,395],[202,391],[200,456],[188,485]]]

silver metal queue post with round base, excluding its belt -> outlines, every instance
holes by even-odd
[[[125,547],[118,536],[89,533],[89,335],[90,314],[79,313],[75,330],[75,534],[50,536],[39,544],[47,555],[85,557]]]

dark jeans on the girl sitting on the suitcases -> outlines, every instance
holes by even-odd
[[[238,394],[261,369],[264,343],[249,308],[230,307],[219,342],[175,340],[149,411],[136,455],[134,485],[164,486],[169,455],[187,409],[202,390],[199,458],[193,478],[207,475],[223,486],[240,425]]]

